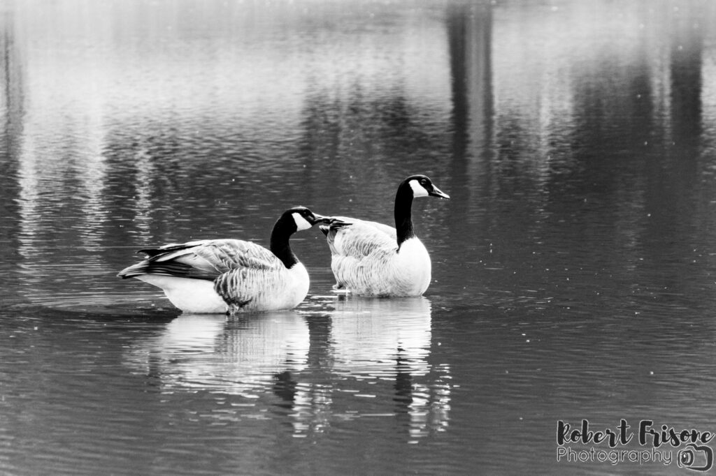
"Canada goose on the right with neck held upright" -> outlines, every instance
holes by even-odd
[[[369,296],[420,296],[430,285],[430,255],[415,236],[414,197],[449,199],[425,175],[403,180],[395,194],[395,227],[336,217],[321,225],[332,253],[334,289]]]

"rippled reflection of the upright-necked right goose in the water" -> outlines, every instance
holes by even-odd
[[[339,297],[331,324],[334,374],[354,378],[367,395],[392,382],[393,412],[408,417],[412,437],[448,427],[450,367],[428,361],[429,299]]]

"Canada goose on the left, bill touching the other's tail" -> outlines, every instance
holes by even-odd
[[[309,290],[309,274],[291,251],[289,237],[318,222],[306,207],[286,210],[271,232],[271,251],[238,239],[204,239],[142,249],[142,262],[122,269],[164,290],[184,312],[218,313],[292,309]]]

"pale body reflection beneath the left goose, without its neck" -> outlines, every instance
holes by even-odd
[[[162,390],[190,388],[256,398],[279,372],[303,370],[309,331],[295,312],[181,314],[163,332],[138,342],[132,367],[159,379]]]

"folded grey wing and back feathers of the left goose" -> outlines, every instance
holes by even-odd
[[[278,270],[283,266],[268,249],[238,239],[167,244],[142,252],[147,259],[122,270],[121,277],[160,274],[213,281],[234,269]]]

